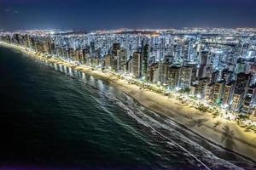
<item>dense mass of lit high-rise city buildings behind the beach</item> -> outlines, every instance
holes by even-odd
[[[256,111],[256,29],[16,31],[1,32],[0,41],[156,83],[242,115]]]

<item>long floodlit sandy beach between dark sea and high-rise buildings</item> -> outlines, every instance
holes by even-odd
[[[0,45],[1,44],[3,43],[0,42]],[[130,84],[125,80],[103,73],[102,71],[93,71],[90,68],[76,66],[58,59],[47,59],[41,55],[38,56],[33,52],[26,51],[25,48],[14,45],[3,44],[3,46],[16,48],[34,58],[67,65],[75,70],[108,80],[113,86],[116,86],[125,94],[137,99],[139,103],[148,109],[169,117],[173,121],[189,128],[194,133],[199,134],[201,137],[212,141],[212,143],[256,161],[256,133],[251,131],[245,132],[245,129],[238,126],[235,121],[228,121],[220,117],[213,118],[211,113],[198,111],[194,107],[183,105],[177,99],[171,99],[162,94],[156,94],[147,89],[141,89],[137,85]],[[221,122],[221,124],[215,127],[216,122]]]

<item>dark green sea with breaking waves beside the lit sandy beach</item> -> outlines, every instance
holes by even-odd
[[[0,167],[254,169],[109,82],[0,48]]]

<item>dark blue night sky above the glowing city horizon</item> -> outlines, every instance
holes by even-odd
[[[0,0],[0,28],[256,27],[256,0]]]

